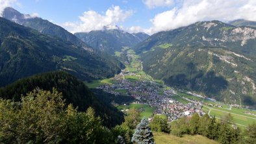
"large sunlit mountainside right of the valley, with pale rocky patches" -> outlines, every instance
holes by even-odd
[[[256,28],[200,21],[134,47],[144,71],[170,86],[256,106]]]

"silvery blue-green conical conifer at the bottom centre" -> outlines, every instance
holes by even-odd
[[[149,122],[146,118],[143,118],[136,126],[131,141],[137,144],[155,143],[153,139],[153,132],[151,131],[151,128],[149,127]]]

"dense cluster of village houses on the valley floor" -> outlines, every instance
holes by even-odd
[[[162,85],[147,80],[136,80],[132,82],[120,78],[115,84],[106,84],[99,88],[115,95],[123,94],[116,90],[126,90],[127,93],[125,95],[134,97],[137,103],[149,104],[149,106],[155,107],[154,114],[164,114],[168,117],[168,121],[174,121],[184,115],[189,116],[196,112],[199,115],[204,114],[201,110],[201,102],[188,99],[189,103],[183,104],[175,101],[172,99],[173,95],[177,95],[174,90],[164,90]]]

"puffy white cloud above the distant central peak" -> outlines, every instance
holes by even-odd
[[[79,22],[66,22],[62,26],[66,27],[70,32],[102,30],[105,26],[109,27],[109,29],[115,29],[116,25],[125,21],[132,14],[132,10],[122,10],[120,6],[112,6],[103,15],[89,10],[84,12],[83,16],[79,16]]]

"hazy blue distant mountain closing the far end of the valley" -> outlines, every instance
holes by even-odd
[[[130,34],[120,29],[103,29],[77,32],[75,36],[99,51],[114,54],[116,51],[121,51],[123,47],[133,47],[148,38],[149,35],[143,32]]]

